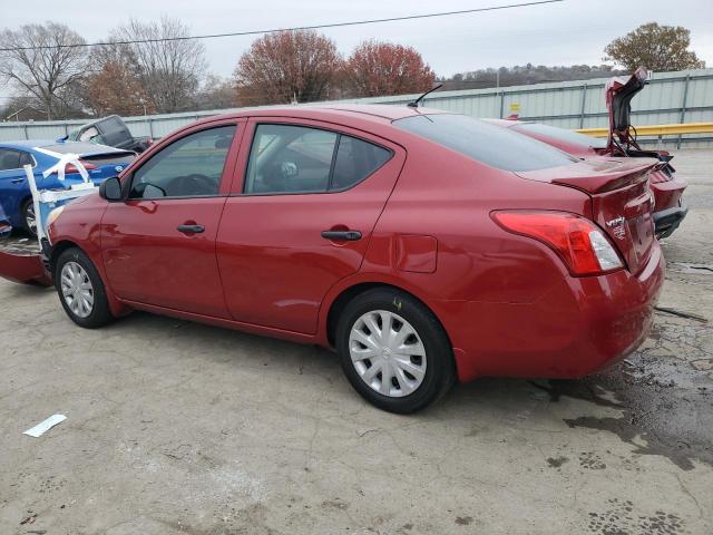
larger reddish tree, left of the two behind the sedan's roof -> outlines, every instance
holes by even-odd
[[[310,30],[268,33],[253,41],[235,68],[238,101],[300,103],[328,96],[342,58],[331,39]]]

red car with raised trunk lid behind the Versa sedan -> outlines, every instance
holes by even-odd
[[[649,174],[649,186],[655,200],[654,224],[656,237],[668,237],[678,228],[688,212],[682,198],[688,184],[671,165],[673,156],[668,152],[642,149],[636,143],[636,128],[631,124],[631,100],[644,88],[646,79],[646,70],[638,69],[628,78],[613,78],[607,84],[606,104],[609,110],[607,139],[516,118],[487,120],[539,139],[574,156],[658,159],[660,164]]]

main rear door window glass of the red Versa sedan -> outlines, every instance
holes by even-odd
[[[326,192],[336,139],[316,128],[257,125],[245,193]]]

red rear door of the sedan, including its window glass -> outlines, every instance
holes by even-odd
[[[251,119],[248,132],[217,237],[227,307],[241,322],[314,333],[329,289],[359,270],[406,153],[303,119]]]

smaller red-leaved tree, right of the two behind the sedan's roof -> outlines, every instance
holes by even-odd
[[[364,41],[344,65],[345,82],[356,97],[422,93],[436,75],[413,47]]]

